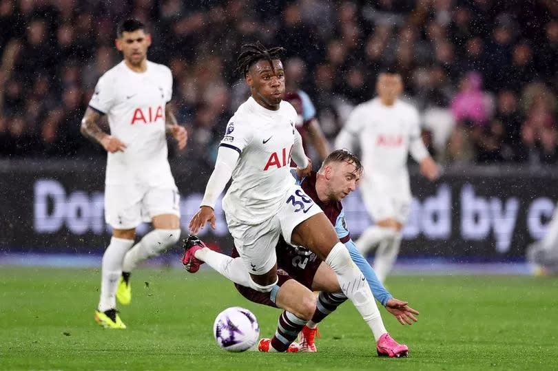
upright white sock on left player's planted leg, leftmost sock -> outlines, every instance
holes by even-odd
[[[122,262],[124,255],[133,244],[134,240],[117,237],[110,239],[101,264],[101,299],[97,308],[101,312],[116,308],[116,288],[118,288],[118,279],[122,274]]]

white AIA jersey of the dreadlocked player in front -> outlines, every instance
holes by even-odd
[[[227,218],[258,224],[275,215],[295,182],[290,173],[291,150],[298,114],[285,101],[277,111],[254,98],[242,103],[229,120],[221,147],[238,151],[232,183],[223,198]]]

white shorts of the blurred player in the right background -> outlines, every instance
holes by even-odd
[[[412,195],[409,177],[362,180],[360,194],[374,222],[393,218],[405,224],[409,218]]]

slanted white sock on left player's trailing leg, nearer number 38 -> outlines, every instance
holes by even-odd
[[[180,240],[180,229],[154,229],[126,253],[122,270],[130,273],[144,260],[154,257]]]

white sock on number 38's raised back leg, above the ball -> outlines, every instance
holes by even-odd
[[[200,248],[194,253],[194,256],[197,259],[203,260],[203,262],[235,284],[254,288],[252,287],[250,273],[240,257],[230,257],[229,255],[212,251],[207,247]]]

